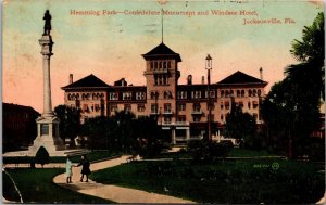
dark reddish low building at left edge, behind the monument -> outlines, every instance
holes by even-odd
[[[28,148],[37,136],[36,118],[40,116],[30,106],[2,103],[3,152]]]

